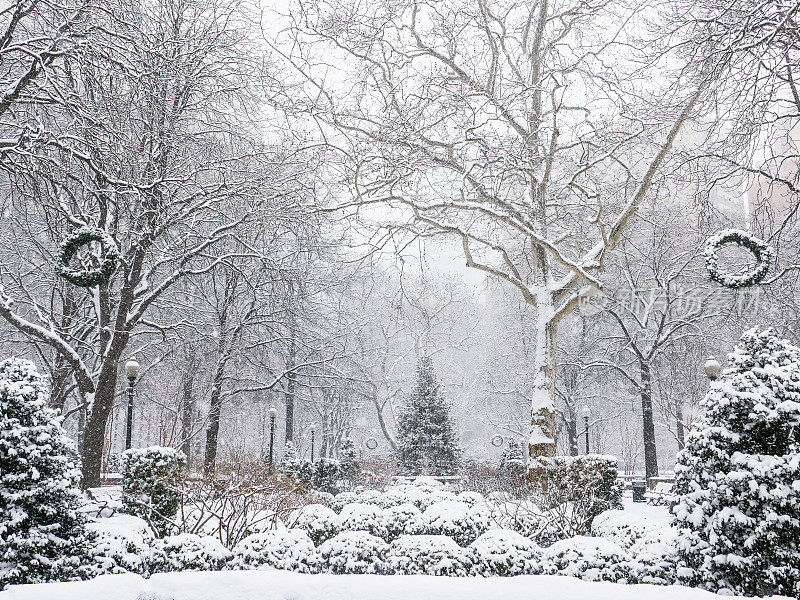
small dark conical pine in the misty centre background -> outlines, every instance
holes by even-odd
[[[433,361],[422,358],[417,385],[399,419],[398,460],[408,475],[454,475],[461,451],[450,406],[442,396]]]

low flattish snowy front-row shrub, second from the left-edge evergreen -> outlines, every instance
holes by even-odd
[[[151,573],[168,571],[220,571],[232,554],[218,539],[192,533],[169,535],[154,541]]]

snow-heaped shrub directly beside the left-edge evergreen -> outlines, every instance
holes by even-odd
[[[152,565],[164,561],[154,547],[153,533],[147,521],[132,515],[117,515],[88,523],[94,533],[91,563],[92,577],[114,573],[150,575]]]

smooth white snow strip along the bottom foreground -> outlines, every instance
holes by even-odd
[[[0,600],[713,600],[698,589],[622,585],[572,577],[305,575],[220,571],[104,575],[91,581],[11,587]]]

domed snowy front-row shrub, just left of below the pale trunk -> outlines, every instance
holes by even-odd
[[[511,577],[541,572],[539,547],[508,529],[492,529],[469,545],[472,570],[482,577]]]

